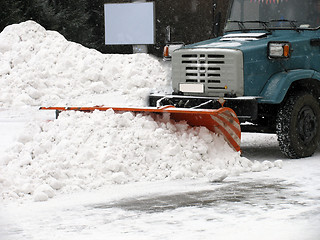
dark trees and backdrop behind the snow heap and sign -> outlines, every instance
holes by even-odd
[[[0,0],[0,31],[7,25],[34,20],[67,40],[95,48],[102,53],[132,53],[131,45],[105,46],[104,4],[130,0]],[[214,37],[214,17],[225,21],[228,0],[153,0],[156,33],[148,52],[161,56],[166,27],[171,42],[194,43]],[[216,4],[214,6],[214,4]],[[222,24],[224,25],[224,23]],[[220,31],[221,34],[221,31]]]

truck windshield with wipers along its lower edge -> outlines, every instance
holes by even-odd
[[[319,26],[320,0],[233,0],[225,31]]]

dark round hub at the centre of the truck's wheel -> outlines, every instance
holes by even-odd
[[[317,135],[317,117],[310,106],[301,109],[298,115],[298,133],[304,144],[308,144]]]

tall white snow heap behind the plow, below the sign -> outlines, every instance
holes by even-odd
[[[150,55],[101,54],[33,21],[0,34],[0,107],[108,105],[111,93],[144,105],[151,88],[166,85],[167,72]]]

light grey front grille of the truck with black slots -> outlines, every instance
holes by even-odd
[[[201,83],[204,85],[203,95],[223,96],[225,93],[243,95],[242,61],[242,53],[237,50],[176,51],[173,55],[172,72],[174,90],[179,92],[180,83]]]

